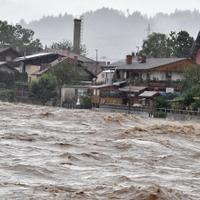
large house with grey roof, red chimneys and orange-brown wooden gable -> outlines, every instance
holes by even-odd
[[[126,80],[133,85],[143,85],[152,90],[174,87],[184,78],[186,69],[192,67],[190,58],[141,58],[128,55],[125,60],[111,64],[115,67],[114,80]]]

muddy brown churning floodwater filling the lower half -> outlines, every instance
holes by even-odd
[[[200,199],[200,125],[0,103],[0,199]]]

